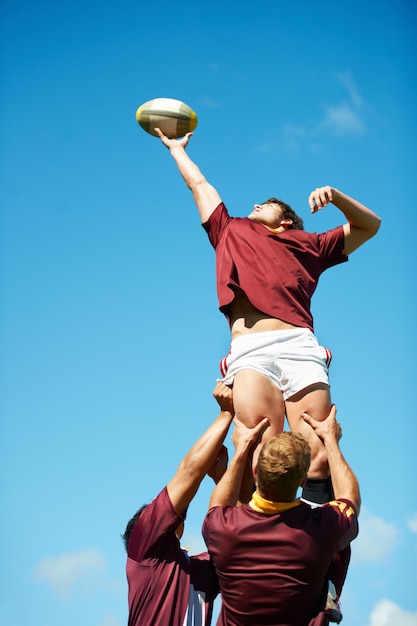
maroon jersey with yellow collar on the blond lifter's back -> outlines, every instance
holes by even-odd
[[[222,594],[218,626],[307,626],[323,611],[333,554],[357,535],[354,507],[301,502],[266,515],[249,505],[214,507],[203,536]]]

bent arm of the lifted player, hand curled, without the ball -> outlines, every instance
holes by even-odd
[[[318,187],[311,192],[308,203],[312,213],[316,213],[331,202],[346,217],[344,224],[345,254],[354,252],[379,230],[381,218],[364,204],[350,198],[334,187]]]

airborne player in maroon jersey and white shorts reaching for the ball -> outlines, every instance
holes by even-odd
[[[314,335],[310,302],[321,273],[373,237],[380,218],[329,186],[310,194],[311,211],[332,203],[347,222],[325,233],[305,232],[302,220],[277,198],[255,204],[247,218],[233,218],[185,151],[192,133],[176,140],[155,130],[192,191],[216,250],[219,306],[232,338],[222,374],[233,384],[236,416],[249,427],[267,417],[266,441],[282,431],[286,414],[291,430],[302,433],[312,450],[303,498],[327,502],[326,452],[301,417],[306,411],[321,421],[331,407],[331,353]]]

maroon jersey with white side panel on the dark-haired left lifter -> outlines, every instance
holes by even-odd
[[[126,574],[129,626],[206,626],[218,582],[207,552],[189,557],[175,530],[185,516],[167,488],[149,504],[132,530]]]

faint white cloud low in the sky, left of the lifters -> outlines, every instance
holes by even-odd
[[[42,559],[35,568],[35,577],[45,580],[67,599],[74,585],[91,572],[106,568],[106,559],[99,550],[89,548]]]

